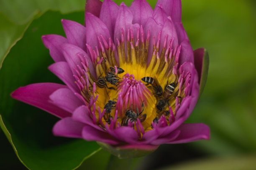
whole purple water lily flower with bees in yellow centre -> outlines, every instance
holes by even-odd
[[[97,141],[119,156],[209,139],[207,125],[183,123],[204,85],[205,51],[192,50],[181,0],[158,0],[154,10],[146,0],[130,7],[87,0],[85,25],[61,22],[66,37],[42,40],[55,62],[49,70],[65,85],[31,84],[11,94],[61,118],[54,135]]]

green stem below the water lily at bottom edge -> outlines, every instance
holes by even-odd
[[[132,158],[120,159],[111,154],[106,170],[129,170],[131,167],[131,162]]]

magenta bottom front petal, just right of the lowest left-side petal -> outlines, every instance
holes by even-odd
[[[90,125],[84,125],[84,128],[82,130],[82,138],[84,138],[87,141],[98,141],[110,145],[117,145],[119,143],[107,132],[95,129]]]

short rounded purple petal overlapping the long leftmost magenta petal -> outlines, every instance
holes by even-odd
[[[74,92],[67,88],[56,90],[49,98],[54,105],[71,113],[74,112],[77,107],[83,105],[82,101],[74,95]]]

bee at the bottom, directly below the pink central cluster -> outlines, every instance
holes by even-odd
[[[127,126],[129,120],[130,122],[135,122],[137,121],[137,118],[140,120],[140,122],[143,122],[144,120],[146,120],[147,115],[146,114],[141,115],[141,113],[144,111],[144,108],[145,108],[143,103],[141,105],[141,108],[142,110],[140,113],[138,113],[138,108],[137,108],[137,113],[133,112],[132,108],[130,110],[127,110],[125,112],[125,118],[122,120],[121,125]]]

